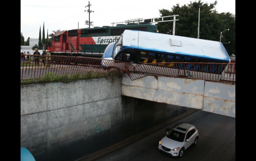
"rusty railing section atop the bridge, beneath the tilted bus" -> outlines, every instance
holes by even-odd
[[[235,84],[235,63],[145,63],[124,71],[131,80],[150,75]]]

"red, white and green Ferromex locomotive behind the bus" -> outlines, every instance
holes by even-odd
[[[52,36],[48,47],[52,55],[102,57],[109,43],[118,40],[124,30],[157,32],[152,24],[119,24],[114,27],[103,26],[60,31]]]

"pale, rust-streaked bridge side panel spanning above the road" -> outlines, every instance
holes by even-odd
[[[122,79],[121,95],[178,105],[235,118],[235,85],[205,80],[147,76]]]

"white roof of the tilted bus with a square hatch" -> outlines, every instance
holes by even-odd
[[[226,49],[218,41],[135,30],[125,30],[122,39],[123,47],[230,62]]]

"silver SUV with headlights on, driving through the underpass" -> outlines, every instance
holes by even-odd
[[[194,125],[182,123],[167,132],[159,141],[158,149],[165,154],[182,157],[189,146],[197,145],[198,135]]]

